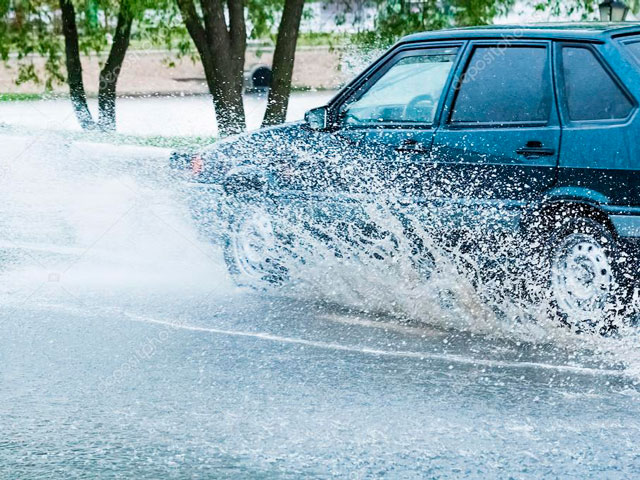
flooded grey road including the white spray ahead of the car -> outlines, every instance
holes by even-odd
[[[636,339],[247,292],[167,151],[1,141],[0,478],[640,475]]]

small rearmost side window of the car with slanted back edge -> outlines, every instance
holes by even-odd
[[[593,51],[563,47],[564,102],[571,121],[622,120],[633,103]]]

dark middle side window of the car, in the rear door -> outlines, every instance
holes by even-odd
[[[552,102],[546,47],[477,46],[458,84],[450,123],[547,123]]]

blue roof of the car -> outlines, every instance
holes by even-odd
[[[475,38],[541,38],[552,40],[580,40],[605,42],[612,37],[640,35],[640,22],[573,22],[573,23],[531,23],[523,25],[490,25],[483,27],[462,27],[408,35],[400,43],[429,40],[475,39]]]

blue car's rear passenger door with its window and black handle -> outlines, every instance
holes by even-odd
[[[546,41],[469,45],[432,149],[456,221],[517,227],[555,182],[561,129]]]

